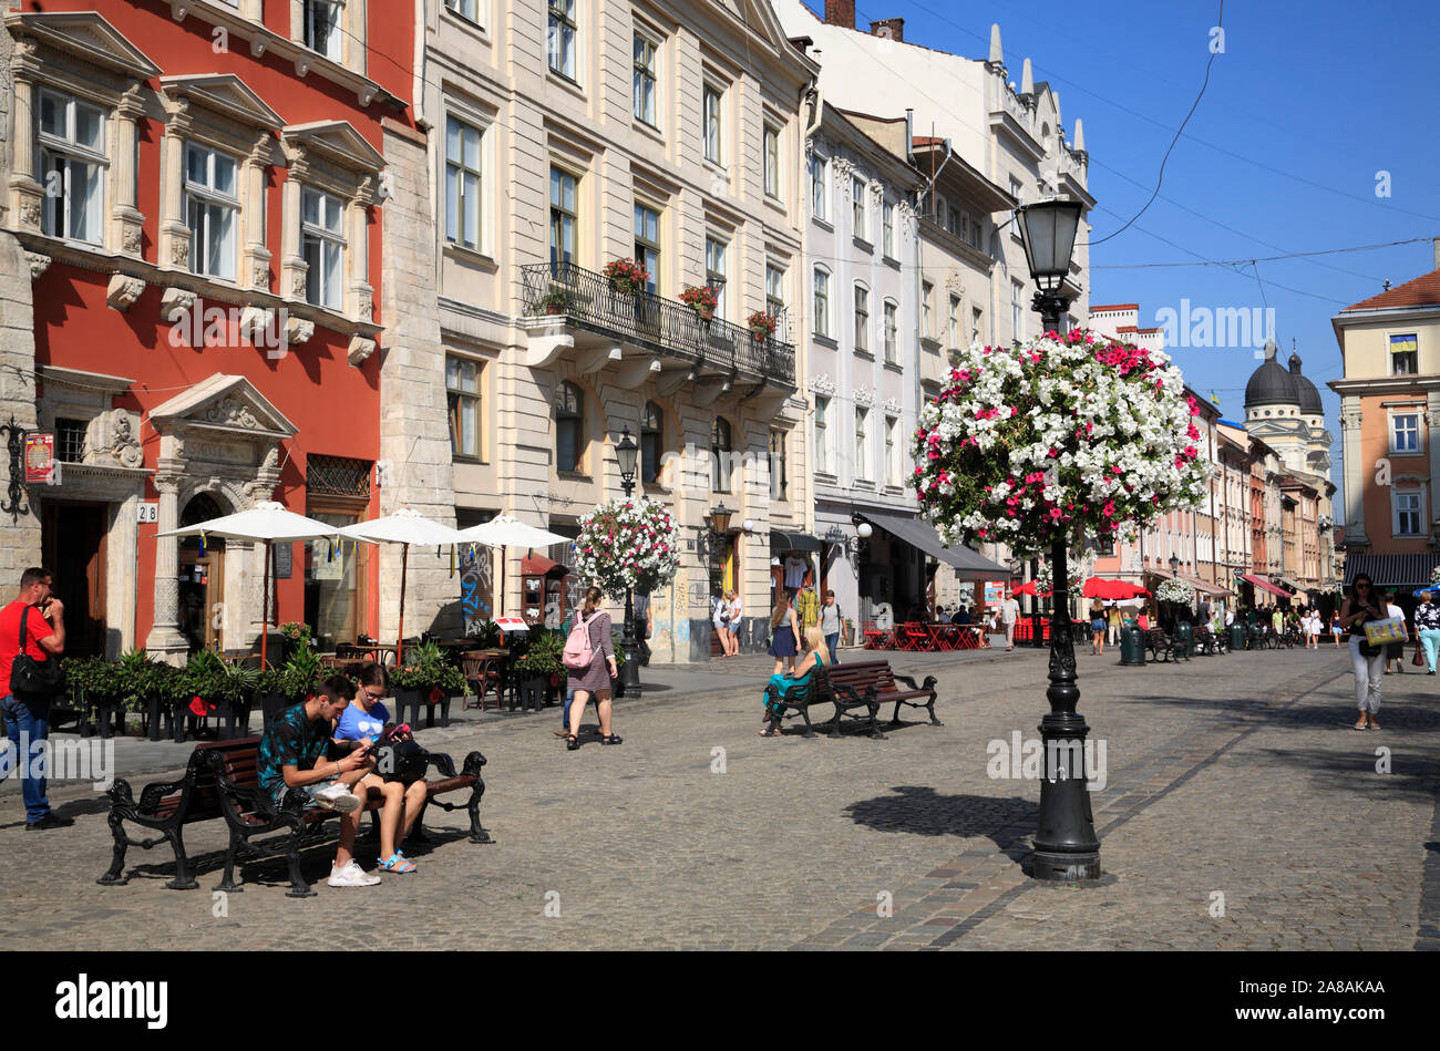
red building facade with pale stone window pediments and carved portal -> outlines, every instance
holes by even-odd
[[[0,422],[60,469],[7,501],[0,572],[56,572],[73,652],[248,649],[261,549],[156,534],[379,510],[382,130],[409,128],[413,6],[26,0],[6,29]],[[271,622],[373,632],[376,569],[284,546]]]

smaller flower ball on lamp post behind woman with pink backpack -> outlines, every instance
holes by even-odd
[[[619,497],[580,518],[575,572],[615,600],[625,590],[655,592],[680,563],[680,527],[664,504]]]

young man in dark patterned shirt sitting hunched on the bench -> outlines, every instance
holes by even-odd
[[[374,759],[354,750],[344,759],[325,759],[334,721],[354,700],[356,688],[344,675],[331,675],[304,704],[285,708],[265,727],[255,757],[261,790],[279,805],[289,789],[310,796],[305,803],[336,811],[340,818],[340,847],[330,870],[331,887],[373,887],[370,875],[354,860],[360,831],[361,799],[351,789],[374,769]]]

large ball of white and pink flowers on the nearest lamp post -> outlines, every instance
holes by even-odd
[[[973,344],[920,412],[910,481],[949,544],[1025,557],[1084,536],[1130,538],[1204,498],[1198,413],[1162,351],[1081,328]]]

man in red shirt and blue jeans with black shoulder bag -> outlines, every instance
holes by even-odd
[[[37,609],[32,609],[37,608]],[[20,574],[20,593],[16,600],[0,609],[0,713],[4,713],[6,727],[14,752],[0,760],[0,780],[9,776],[10,767],[20,767],[22,795],[24,796],[26,831],[43,831],[73,825],[69,818],[50,813],[50,800],[45,798],[45,777],[32,776],[45,769],[45,760],[37,757],[45,752],[45,740],[50,736],[50,698],[43,694],[16,694],[10,688],[10,668],[20,655],[20,618],[24,619],[24,652],[36,661],[55,659],[65,652],[65,605],[50,597],[50,570],[32,567]]]

